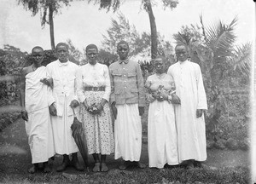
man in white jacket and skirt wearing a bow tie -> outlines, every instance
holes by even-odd
[[[72,153],[72,163],[76,170],[83,170],[79,164],[77,147],[73,136],[71,125],[73,124],[73,107],[79,106],[76,96],[76,72],[79,66],[67,60],[68,48],[66,43],[58,43],[56,51],[59,60],[49,63],[46,68],[49,78],[52,78],[52,93],[55,103],[51,106],[50,112],[53,115],[52,126],[55,141],[55,152],[63,155],[63,163],[57,168],[62,171],[70,163],[69,154]]]

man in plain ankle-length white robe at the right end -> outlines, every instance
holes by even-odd
[[[195,161],[207,159],[206,128],[203,110],[207,110],[207,96],[201,68],[188,60],[186,45],[175,48],[177,63],[168,69],[176,85],[181,105],[176,106],[177,141],[179,162],[186,161],[187,168],[194,168]]]

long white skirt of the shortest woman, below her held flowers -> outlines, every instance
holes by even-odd
[[[178,164],[174,108],[168,101],[154,101],[148,109],[149,167]]]

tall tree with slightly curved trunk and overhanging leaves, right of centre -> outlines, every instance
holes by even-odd
[[[90,2],[95,2],[100,4],[100,9],[107,9],[108,11],[112,8],[113,11],[116,11],[119,9],[119,6],[121,4],[121,0],[89,0]],[[161,3],[161,5],[166,8],[176,8],[177,7],[177,0],[161,0],[158,1],[158,3]],[[158,52],[158,33],[156,28],[156,23],[154,19],[154,12],[152,9],[152,6],[158,4],[157,1],[154,0],[142,0],[142,7],[143,9],[148,13],[149,22],[150,22],[150,30],[151,30],[151,37],[150,37],[150,43],[151,43],[151,58],[154,59],[157,56]]]

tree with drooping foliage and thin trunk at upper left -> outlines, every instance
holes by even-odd
[[[49,35],[51,49],[55,49],[55,37],[54,37],[54,14],[59,13],[59,9],[63,5],[68,6],[72,0],[18,0],[18,3],[22,4],[26,10],[32,11],[32,16],[43,12],[41,14],[41,26],[45,26],[45,23],[49,24]]]

